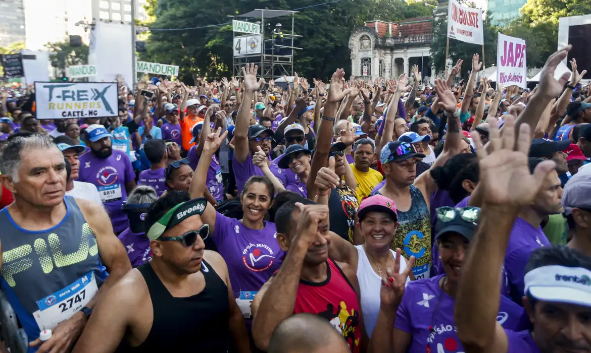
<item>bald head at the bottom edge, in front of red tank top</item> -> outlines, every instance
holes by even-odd
[[[326,319],[299,313],[281,321],[269,341],[268,353],[349,353],[350,349]]]

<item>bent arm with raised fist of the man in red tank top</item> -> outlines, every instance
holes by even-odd
[[[317,239],[317,233],[329,232],[327,220],[329,208],[326,205],[296,204],[300,209],[300,219],[290,243],[287,257],[264,295],[255,296],[258,304],[253,306],[252,338],[256,347],[267,350],[269,339],[275,327],[293,315],[296,306],[297,288],[300,284],[301,270],[308,248]],[[290,217],[291,218],[291,217]],[[291,222],[291,219],[285,220]],[[277,234],[277,241],[287,242],[286,234]],[[262,297],[262,298],[261,298]],[[256,311],[255,311],[256,309]]]

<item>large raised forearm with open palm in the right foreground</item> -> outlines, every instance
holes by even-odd
[[[501,300],[499,272],[519,208],[534,201],[545,176],[555,165],[553,161],[544,161],[530,174],[530,126],[521,126],[515,151],[513,117],[506,117],[502,136],[496,119],[491,120],[488,153],[478,133],[474,134],[483,204],[478,230],[463,264],[465,270],[455,306],[457,336],[466,352],[475,353],[507,352],[505,331],[496,321]]]

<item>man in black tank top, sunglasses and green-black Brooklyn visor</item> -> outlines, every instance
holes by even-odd
[[[152,259],[128,272],[97,306],[73,353],[249,353],[228,267],[204,250],[206,198],[168,191],[145,217]]]

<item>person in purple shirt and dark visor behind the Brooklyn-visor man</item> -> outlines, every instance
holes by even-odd
[[[118,238],[127,250],[132,267],[137,267],[152,258],[150,240],[145,235],[144,220],[148,208],[158,200],[156,191],[147,185],[135,188],[122,209],[127,214],[129,227],[119,234]],[[143,211],[143,212],[142,212]]]

